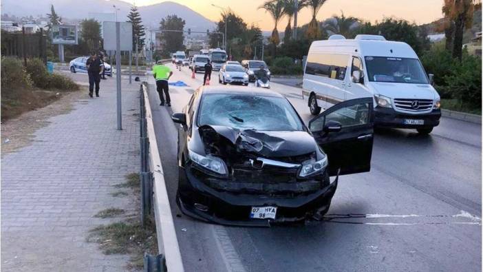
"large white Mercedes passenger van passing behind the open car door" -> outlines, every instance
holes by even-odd
[[[376,127],[429,134],[441,117],[432,81],[407,43],[379,35],[332,35],[310,45],[302,96],[314,115],[341,101],[372,97]]]

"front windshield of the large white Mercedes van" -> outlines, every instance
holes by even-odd
[[[418,59],[366,56],[365,66],[369,81],[428,84]]]

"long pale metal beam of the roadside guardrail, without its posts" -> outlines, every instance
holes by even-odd
[[[181,259],[180,245],[176,237],[176,231],[169,205],[168,191],[162,174],[158,142],[154,133],[153,115],[151,104],[145,85],[142,84],[142,92],[146,105],[147,135],[149,137],[149,167],[153,172],[153,199],[156,221],[156,233],[158,235],[158,250],[164,254],[168,271],[183,272],[183,261]]]

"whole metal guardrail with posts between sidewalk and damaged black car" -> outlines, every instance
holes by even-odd
[[[158,142],[155,137],[153,116],[147,83],[140,87],[140,144],[141,144],[141,210],[142,224],[154,207],[159,255],[144,256],[144,271],[183,272],[183,262],[171,214]]]

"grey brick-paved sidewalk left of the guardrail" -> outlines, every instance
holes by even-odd
[[[115,86],[101,81],[99,98],[86,94],[72,112],[50,118],[32,145],[2,158],[2,271],[125,270],[129,256],[104,255],[86,242],[89,229],[116,221],[93,218],[98,211],[138,209],[110,194],[140,167],[139,84],[122,82],[122,131]]]

